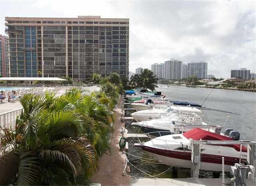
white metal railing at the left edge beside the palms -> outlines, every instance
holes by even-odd
[[[23,108],[18,108],[16,110],[4,112],[0,114],[0,126],[2,128],[10,128],[14,129],[16,124],[16,118],[21,114],[23,111]],[[0,133],[2,133],[2,130],[0,130]]]

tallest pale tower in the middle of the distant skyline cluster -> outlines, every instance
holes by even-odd
[[[164,62],[166,80],[182,79],[182,61],[170,59]]]

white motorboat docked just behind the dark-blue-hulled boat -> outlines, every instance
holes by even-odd
[[[194,107],[170,105],[170,106],[165,106],[162,109],[154,108],[154,109],[148,109],[148,110],[140,110],[132,113],[131,116],[136,121],[148,121],[152,119],[165,117],[166,114],[171,114],[174,112],[175,113],[180,113],[180,112],[195,113],[196,112],[197,114],[202,113],[199,109]]]

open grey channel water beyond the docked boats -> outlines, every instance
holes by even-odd
[[[157,91],[162,91],[162,94],[173,100],[202,104],[208,96],[203,107],[240,114],[204,110],[202,118],[208,124],[223,126],[227,117],[230,116],[224,128],[238,130],[242,140],[256,140],[256,92],[187,86],[161,88],[160,86],[166,87],[166,85],[159,85]]]

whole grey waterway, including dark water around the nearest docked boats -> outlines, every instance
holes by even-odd
[[[156,91],[161,91],[162,94],[166,95],[166,98],[194,102],[202,104],[202,107],[237,113],[228,114],[225,112],[204,110],[202,119],[208,124],[223,126],[228,116],[230,116],[224,128],[234,128],[234,130],[239,131],[240,139],[242,140],[256,140],[256,92],[187,86],[158,86],[159,88],[156,88]],[[128,126],[128,132],[140,133],[142,131],[138,131],[136,126]],[[136,139],[134,139],[130,144],[136,142]],[[153,158],[147,152],[140,148],[134,148],[132,145],[129,146],[128,152],[144,158]],[[134,176],[147,177],[148,175],[143,172],[150,175],[160,174],[157,176],[158,178],[187,178],[190,176],[190,170],[180,169],[178,175],[175,175],[173,169],[169,166],[144,162],[131,155],[128,155],[128,159],[134,165],[130,165],[131,174]],[[169,168],[170,170],[168,170]],[[164,171],[166,172],[161,174]],[[212,172],[200,171],[200,177],[212,178],[213,175]],[[230,175],[225,175],[225,177],[228,178]]]

